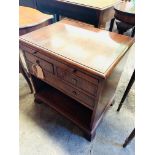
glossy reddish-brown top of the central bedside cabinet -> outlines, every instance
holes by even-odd
[[[133,39],[101,29],[58,22],[20,37],[20,41],[103,77],[119,62]]]

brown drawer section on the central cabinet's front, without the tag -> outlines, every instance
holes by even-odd
[[[62,84],[58,87],[60,87],[64,92],[67,91],[67,93],[70,94],[70,96],[72,96],[75,100],[81,101],[89,108],[94,107],[97,85],[95,85],[93,82],[97,79],[90,77],[76,69],[70,68],[69,66],[54,59],[46,61],[45,57],[42,58],[42,55],[37,56],[38,52],[31,48],[26,47],[26,50],[28,52],[25,52],[25,59],[32,75],[37,77],[33,67],[40,66],[44,75],[44,79],[42,79],[43,81],[52,83],[53,78],[60,80]],[[33,54],[31,52],[33,52]],[[87,78],[89,80],[87,80]],[[91,80],[93,82],[89,82]],[[85,91],[87,94],[85,94]]]

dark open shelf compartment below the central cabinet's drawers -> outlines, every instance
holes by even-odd
[[[36,100],[48,104],[84,131],[90,131],[92,117],[92,111],[90,109],[34,76],[32,79],[40,86],[35,94]]]

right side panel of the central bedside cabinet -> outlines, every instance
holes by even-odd
[[[107,79],[100,80],[100,92],[99,92],[99,99],[96,103],[96,107],[94,109],[94,113],[92,116],[91,128],[96,128],[101,121],[101,117],[105,114],[108,107],[111,105],[112,100],[115,95],[116,88],[118,86],[121,74],[124,69],[124,65],[126,63],[127,52],[120,62],[116,65],[114,70],[112,71],[111,75],[107,77]]]

